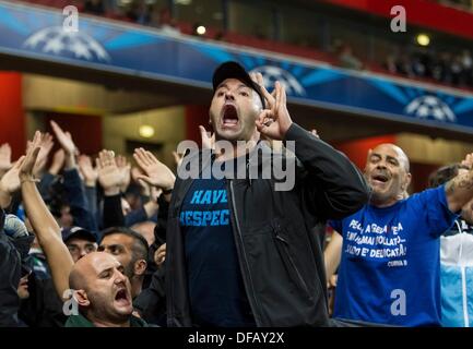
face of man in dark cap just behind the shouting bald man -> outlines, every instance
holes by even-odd
[[[71,227],[62,228],[61,234],[74,263],[84,255],[97,251],[97,238],[92,231],[81,227]]]

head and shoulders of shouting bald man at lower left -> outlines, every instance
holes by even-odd
[[[146,327],[131,315],[131,286],[122,272],[123,266],[105,252],[79,260],[69,276],[79,314],[69,316],[66,327]]]

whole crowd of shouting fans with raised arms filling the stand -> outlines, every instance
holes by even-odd
[[[176,177],[143,148],[135,166],[92,159],[55,121],[15,161],[2,144],[0,326],[471,326],[473,154],[410,195],[401,148],[370,149],[362,177],[262,79],[220,65],[213,136],[175,154],[178,173],[197,159],[224,178]],[[283,191],[250,174],[277,158],[294,165]]]

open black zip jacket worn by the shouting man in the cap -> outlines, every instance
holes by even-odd
[[[227,180],[239,265],[258,326],[328,326],[323,251],[317,232],[322,232],[327,219],[358,210],[368,200],[368,189],[344,154],[299,125],[289,128],[286,141],[296,142],[296,158],[286,157],[296,163],[293,190],[275,191],[274,178]],[[188,155],[192,156],[200,155]],[[271,151],[260,142],[249,156],[247,170],[268,161],[273,161]],[[180,207],[191,183],[191,179],[176,180],[169,206],[168,326],[192,325],[179,225]]]

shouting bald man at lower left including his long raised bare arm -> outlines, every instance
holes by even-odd
[[[64,301],[79,305],[79,313],[74,313],[72,306],[72,315],[66,325],[146,326],[143,321],[131,316],[130,281],[122,275],[123,266],[113,255],[92,252],[74,265],[60,228],[36,188],[33,168],[40,149],[39,143],[40,133],[37,131],[19,177],[26,214],[48,258],[56,291]],[[72,300],[68,298],[71,288]]]

